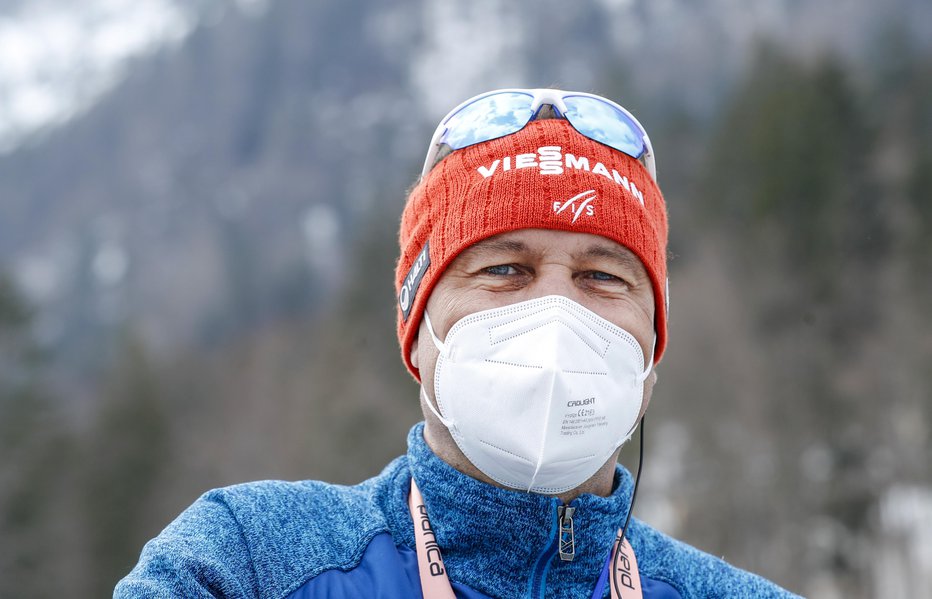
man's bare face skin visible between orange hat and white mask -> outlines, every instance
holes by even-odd
[[[624,246],[589,233],[521,229],[480,241],[447,267],[427,301],[427,313],[443,340],[464,316],[547,295],[567,297],[628,331],[650,359],[654,293],[647,270]],[[411,361],[431,401],[438,356],[422,320]],[[645,381],[642,413],[654,380],[652,375]]]

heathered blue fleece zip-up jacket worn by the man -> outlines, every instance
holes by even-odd
[[[557,552],[559,500],[470,478],[427,447],[352,487],[265,481],[210,491],[143,548],[114,597],[421,597],[407,498],[412,475],[461,598],[608,597],[600,575],[633,481],[572,502],[576,556]],[[772,583],[632,519],[646,599],[793,597]],[[601,584],[601,586],[599,586]]]

